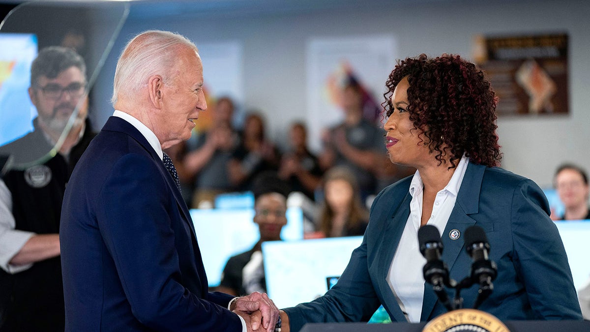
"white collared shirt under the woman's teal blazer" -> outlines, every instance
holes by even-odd
[[[432,214],[427,224],[436,226],[442,232],[457,200],[457,193],[463,182],[469,158],[463,156],[448,184],[437,193]],[[424,300],[424,276],[422,268],[426,259],[420,253],[418,229],[422,219],[422,194],[424,183],[416,171],[409,187],[412,200],[409,203],[409,217],[399,240],[394,259],[389,266],[387,281],[404,315],[411,323],[420,321]],[[442,234],[442,236],[448,236]]]

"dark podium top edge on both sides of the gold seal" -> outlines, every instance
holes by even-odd
[[[504,321],[510,332],[588,332],[590,321],[552,320],[552,321]],[[421,332],[423,323],[308,323],[301,328],[301,332]]]

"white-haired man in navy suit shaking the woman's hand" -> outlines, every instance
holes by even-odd
[[[146,31],[119,57],[113,116],[65,191],[67,331],[276,327],[278,309],[266,294],[208,292],[178,175],[162,151],[188,139],[207,109],[197,51],[181,35]]]

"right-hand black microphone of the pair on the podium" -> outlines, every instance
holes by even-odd
[[[490,261],[490,244],[487,242],[486,232],[479,226],[471,226],[465,230],[465,244],[467,253],[471,257],[471,282],[480,285],[476,302],[473,305],[477,309],[481,302],[494,290],[492,281],[496,279],[498,268],[496,263]]]

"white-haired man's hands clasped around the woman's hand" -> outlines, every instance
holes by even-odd
[[[257,330],[262,323],[267,332],[273,332],[278,321],[278,308],[266,293],[253,292],[245,297],[238,297],[232,302],[230,310],[250,314],[251,325],[248,325],[252,327],[252,330]]]

